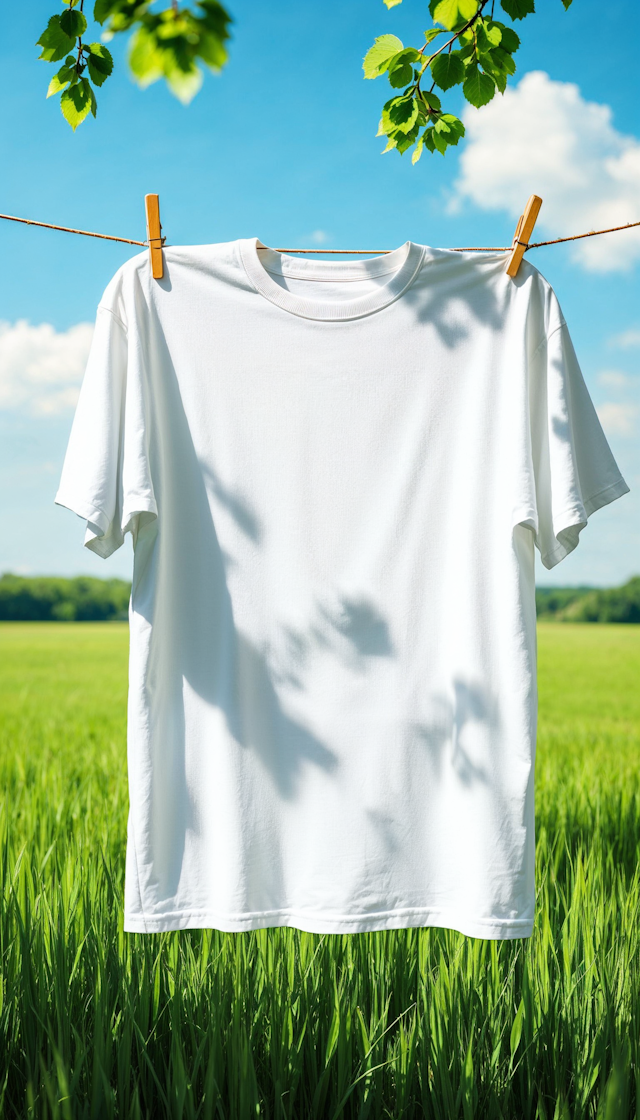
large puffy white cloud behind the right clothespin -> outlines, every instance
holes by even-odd
[[[465,111],[462,174],[449,208],[471,198],[516,222],[529,195],[540,195],[536,241],[640,221],[640,141],[618,132],[612,116],[572,82],[526,74],[483,109]],[[625,271],[640,259],[640,228],[554,251],[593,272]]]

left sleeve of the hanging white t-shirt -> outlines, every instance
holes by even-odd
[[[108,288],[103,300],[113,292]],[[130,362],[128,327],[101,302],[73,419],[57,505],[86,521],[84,545],[100,557],[157,517],[149,424],[140,370]]]

